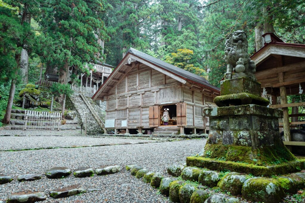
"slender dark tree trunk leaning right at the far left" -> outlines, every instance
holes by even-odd
[[[15,54],[15,61],[17,64],[15,75],[17,75],[19,65],[20,65],[20,54],[19,53]],[[4,123],[4,124],[9,124],[9,120],[11,119],[12,106],[13,106],[13,101],[14,101],[14,96],[15,96],[15,89],[16,89],[16,78],[13,78],[12,82],[11,82],[11,88],[9,90],[9,100],[7,101],[5,115],[2,120],[2,123]]]

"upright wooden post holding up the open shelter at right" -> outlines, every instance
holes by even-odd
[[[278,74],[278,80],[279,80],[279,82],[284,82],[284,73],[283,72]],[[286,94],[285,86],[280,87],[280,101],[281,101],[281,104],[287,103],[287,94]],[[288,108],[284,107],[284,108],[282,108],[282,110],[284,113],[284,116],[283,116],[284,139],[285,139],[285,141],[291,141]]]

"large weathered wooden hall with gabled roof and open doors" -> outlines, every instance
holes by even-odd
[[[105,127],[115,133],[182,134],[208,130],[203,108],[216,106],[219,95],[203,77],[130,48],[92,99],[106,100]],[[167,126],[161,120],[165,108]]]

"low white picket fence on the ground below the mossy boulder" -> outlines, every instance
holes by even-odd
[[[23,130],[60,130],[61,120],[59,112],[26,110]]]

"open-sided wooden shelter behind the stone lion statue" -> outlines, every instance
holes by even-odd
[[[289,117],[305,114],[289,115],[288,107],[305,106],[305,101],[287,103],[287,95],[305,93],[305,44],[284,43],[273,33],[265,33],[263,37],[264,47],[250,57],[257,66],[255,76],[265,94],[271,95],[272,105],[269,107],[284,111],[283,122],[280,123],[280,127],[284,128],[284,144],[304,146],[305,143],[290,142],[290,125],[305,122],[289,122]],[[277,97],[280,102],[277,102]]]

